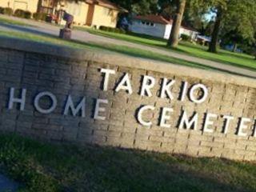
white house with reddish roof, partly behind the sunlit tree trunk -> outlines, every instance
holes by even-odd
[[[154,37],[168,39],[172,24],[173,20],[167,20],[161,15],[135,16],[130,24],[130,31],[137,34],[148,34]],[[179,34],[186,34],[192,39],[195,39],[199,33],[196,30],[182,26]]]

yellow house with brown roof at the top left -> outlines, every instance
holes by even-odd
[[[13,10],[28,10],[31,13],[40,12],[58,15],[61,10],[74,15],[74,25],[116,27],[118,13],[126,11],[108,0],[0,0],[0,6],[10,7]],[[61,20],[61,19],[60,19]],[[64,22],[61,21],[63,24]]]

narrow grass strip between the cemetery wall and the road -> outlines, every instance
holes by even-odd
[[[43,43],[49,43],[54,45],[69,46],[69,47],[74,47],[74,48],[83,49],[83,50],[98,50],[106,53],[111,51],[110,53],[112,54],[113,52],[115,52],[118,54],[126,54],[133,57],[150,58],[150,59],[154,59],[162,62],[170,62],[170,63],[183,65],[183,66],[198,67],[205,70],[214,69],[214,68],[210,68],[209,66],[202,65],[196,62],[187,62],[179,58],[172,58],[164,54],[157,54],[149,50],[141,50],[141,49],[131,48],[129,46],[117,46],[117,45],[114,46],[112,44],[96,44],[96,43],[90,43],[90,42],[79,42],[74,40],[65,41],[50,35],[45,36],[45,35],[36,35],[36,34],[18,33],[18,32],[0,31],[0,36],[7,37],[7,38],[21,38],[29,41],[43,42]],[[214,69],[214,70],[217,70],[217,69]]]

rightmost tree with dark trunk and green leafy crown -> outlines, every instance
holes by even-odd
[[[211,34],[210,52],[217,52],[220,31],[222,34],[233,31],[237,37],[254,41],[256,0],[216,0],[213,2],[212,10],[217,12],[217,17]]]

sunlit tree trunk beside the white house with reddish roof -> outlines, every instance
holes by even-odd
[[[182,25],[183,13],[186,6],[186,0],[177,0],[177,10],[174,17],[174,22],[171,27],[170,38],[167,42],[167,46],[177,47],[178,46],[178,37],[179,29]]]

